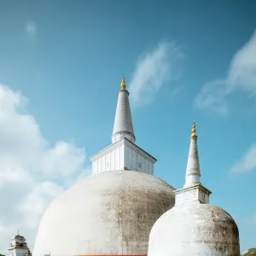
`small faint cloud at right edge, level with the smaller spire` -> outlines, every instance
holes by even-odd
[[[232,166],[230,172],[250,172],[256,170],[256,144],[251,146],[241,157],[241,160],[238,160],[234,166]]]

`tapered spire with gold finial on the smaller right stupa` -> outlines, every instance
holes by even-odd
[[[190,147],[189,147],[189,159],[186,170],[186,183],[184,188],[200,184],[200,164],[197,150],[197,135],[195,129],[195,121],[192,125],[192,134],[190,137]]]

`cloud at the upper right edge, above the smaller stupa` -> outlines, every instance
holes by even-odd
[[[227,77],[202,86],[195,106],[226,115],[230,111],[227,97],[239,90],[256,98],[256,32],[234,56]]]

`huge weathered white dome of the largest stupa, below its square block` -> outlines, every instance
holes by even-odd
[[[143,172],[82,180],[44,212],[32,255],[147,254],[154,222],[174,205],[173,190]]]

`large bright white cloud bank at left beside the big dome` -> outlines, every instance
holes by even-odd
[[[45,207],[89,173],[84,148],[63,141],[49,147],[26,102],[0,84],[0,253],[6,255],[17,230],[32,247]]]

